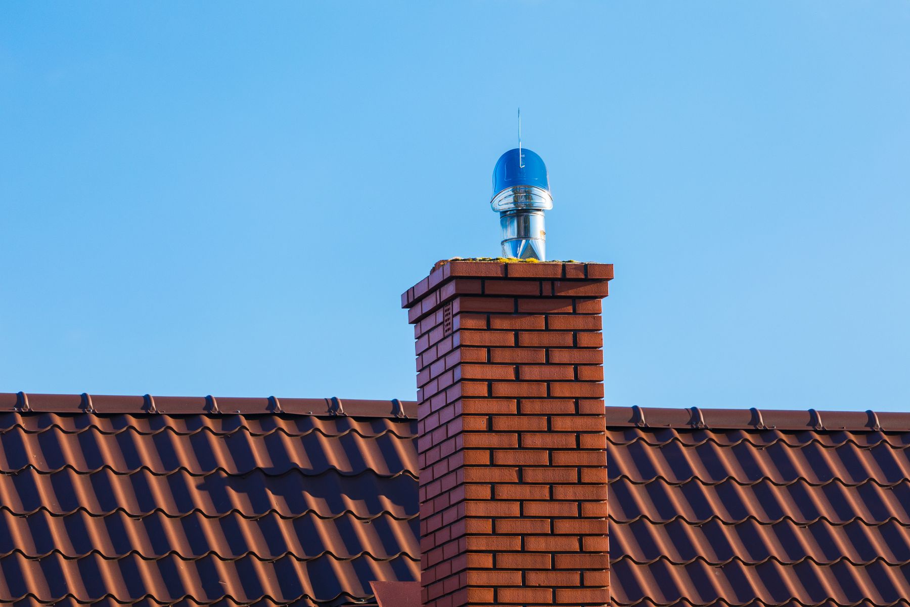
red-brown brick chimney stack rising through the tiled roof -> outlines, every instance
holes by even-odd
[[[606,605],[612,265],[440,264],[401,296],[417,339],[423,604]]]

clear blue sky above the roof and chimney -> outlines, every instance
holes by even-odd
[[[399,294],[612,262],[607,403],[910,402],[906,2],[5,3],[0,391],[413,399]]]

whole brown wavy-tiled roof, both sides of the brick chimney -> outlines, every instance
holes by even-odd
[[[419,579],[412,414],[0,394],[0,602],[372,604]],[[617,605],[910,604],[910,414],[607,408],[607,437]]]

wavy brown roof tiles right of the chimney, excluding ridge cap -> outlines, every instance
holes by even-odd
[[[910,432],[674,425],[608,422],[616,604],[907,604]]]

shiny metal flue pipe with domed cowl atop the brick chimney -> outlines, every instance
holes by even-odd
[[[493,168],[490,207],[500,214],[502,257],[546,261],[543,211],[553,207],[553,197],[540,156],[516,147],[500,157]]]

